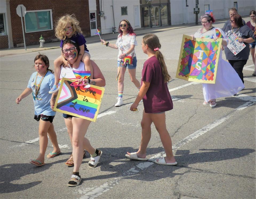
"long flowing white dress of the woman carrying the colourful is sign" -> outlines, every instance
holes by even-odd
[[[228,39],[225,33],[220,28],[213,28],[205,33],[200,32],[199,29],[195,34],[195,38],[208,38],[214,39],[216,38],[216,30],[221,32],[223,36],[223,40],[228,43]],[[203,97],[206,102],[210,99],[216,99],[219,97],[229,97],[240,90],[245,88],[242,80],[238,76],[237,72],[235,72],[234,68],[230,65],[229,62],[222,59],[222,50],[219,54],[219,62],[216,74],[215,84],[202,84],[203,85]]]

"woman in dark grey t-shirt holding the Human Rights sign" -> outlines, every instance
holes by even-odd
[[[243,25],[242,17],[238,14],[231,16],[231,25],[223,28],[226,36],[229,37],[235,33],[239,38],[239,42],[243,42],[246,47],[242,49],[239,53],[234,55],[229,48],[225,47],[226,59],[229,61],[231,66],[235,69],[240,79],[243,81],[243,67],[247,63],[250,54],[249,43],[254,42],[254,35],[248,26]]]

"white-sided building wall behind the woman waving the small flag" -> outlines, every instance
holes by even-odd
[[[101,33],[112,33],[112,27],[116,27],[115,30],[118,32],[118,26],[122,19],[127,19],[133,29],[134,27],[134,8],[133,6],[139,6],[139,0],[100,0],[100,11],[104,12],[104,16],[101,16]],[[114,16],[113,16],[113,10]],[[121,6],[127,6],[128,15],[121,15]],[[139,9],[140,10],[140,9]],[[139,11],[140,12],[140,11]],[[139,13],[140,17],[140,13]],[[114,20],[115,19],[115,20]],[[114,24],[115,21],[115,24]],[[139,20],[140,21],[140,20]],[[141,24],[136,28],[140,28]]]

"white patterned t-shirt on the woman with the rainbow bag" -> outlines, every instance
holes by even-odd
[[[129,34],[122,35],[122,36],[120,35],[121,34],[118,35],[117,42],[116,42],[116,45],[119,50],[117,60],[121,60],[118,57],[123,53],[126,53],[131,48],[131,45],[138,45],[135,35],[129,35]],[[135,49],[129,55],[135,57],[136,56]]]

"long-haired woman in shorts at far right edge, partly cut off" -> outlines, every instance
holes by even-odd
[[[251,18],[251,20],[249,22],[247,22],[246,25],[251,29],[251,31],[253,31],[254,39],[255,39],[256,38],[256,11],[255,10],[250,11],[250,18]],[[255,63],[256,52],[255,52],[255,45],[256,45],[256,41],[255,40],[254,40],[254,42],[250,43],[251,57],[253,58],[253,64],[254,64],[253,76],[256,76],[256,63]]]

